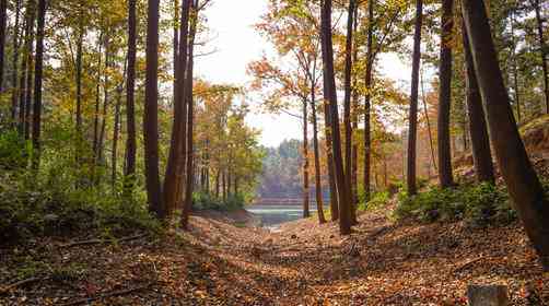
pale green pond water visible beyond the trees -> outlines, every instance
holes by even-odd
[[[289,204],[261,204],[247,207],[246,210],[261,219],[265,227],[274,227],[281,223],[300,220],[303,217],[302,205]],[[329,210],[328,207],[325,211]],[[311,205],[311,214],[316,214],[316,205]]]

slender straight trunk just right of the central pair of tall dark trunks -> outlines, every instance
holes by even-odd
[[[372,172],[372,73],[374,71],[374,0],[367,4],[367,42],[366,42],[366,75],[364,86],[366,94],[364,96],[364,202],[367,203],[371,198],[371,172]]]

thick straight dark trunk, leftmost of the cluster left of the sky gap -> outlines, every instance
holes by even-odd
[[[165,219],[159,175],[159,19],[160,0],[148,0],[147,73],[143,116],[144,164],[149,210]]]

